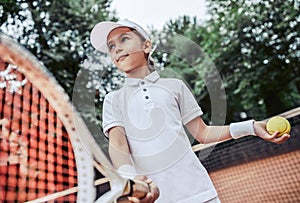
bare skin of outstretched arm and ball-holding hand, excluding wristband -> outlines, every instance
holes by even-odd
[[[186,124],[186,127],[193,135],[193,137],[195,137],[195,139],[202,144],[220,142],[232,138],[229,130],[229,125],[207,126],[201,117],[194,118]],[[281,137],[276,137],[278,135],[278,132],[270,135],[266,131],[266,123],[263,121],[254,121],[253,128],[257,136],[266,141],[274,142],[276,144],[281,144],[290,137],[290,135],[288,134],[285,134]]]

